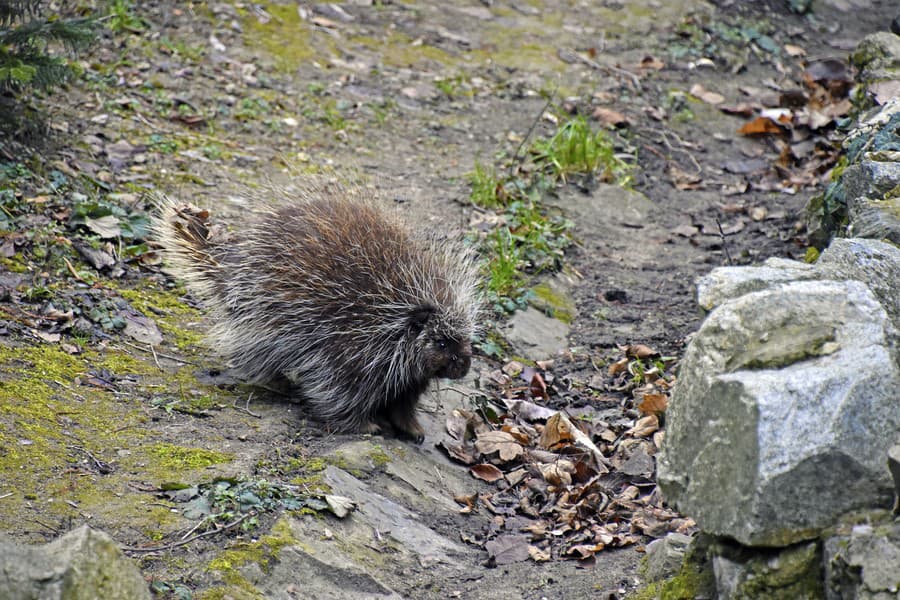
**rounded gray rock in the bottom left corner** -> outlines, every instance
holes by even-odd
[[[83,525],[44,546],[0,541],[0,598],[149,600],[150,591],[112,538]]]

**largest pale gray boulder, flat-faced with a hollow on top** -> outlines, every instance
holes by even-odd
[[[666,497],[748,546],[889,505],[896,331],[855,281],[779,284],[716,308],[685,353],[658,463]]]

